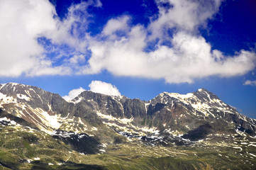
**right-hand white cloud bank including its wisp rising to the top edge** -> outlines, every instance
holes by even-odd
[[[221,0],[207,3],[159,0],[157,4],[162,2],[168,2],[173,7],[166,9],[159,5],[159,17],[148,28],[137,25],[128,29],[128,20],[122,18],[115,22],[109,21],[117,24],[116,27],[112,26],[113,30],[122,23],[126,28],[126,35],[104,41],[100,41],[100,38],[91,40],[89,64],[79,73],[97,74],[106,69],[117,76],[165,79],[168,83],[191,83],[195,79],[210,76],[234,77],[255,68],[254,52],[240,50],[234,56],[225,56],[219,50],[212,50],[211,44],[194,33],[218,12]],[[109,23],[105,28],[108,28]],[[166,28],[177,30],[171,37],[165,35]],[[148,30],[152,33],[150,37]],[[145,52],[152,38],[160,38],[160,42],[155,50]],[[172,46],[162,45],[162,40],[168,40]]]

